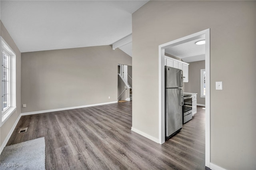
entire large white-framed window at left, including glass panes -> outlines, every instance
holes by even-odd
[[[16,55],[1,37],[1,121],[0,126],[16,111]]]

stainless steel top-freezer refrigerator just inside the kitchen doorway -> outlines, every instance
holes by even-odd
[[[183,73],[165,66],[165,136],[166,140],[182,128]]]

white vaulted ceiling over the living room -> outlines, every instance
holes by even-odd
[[[146,2],[1,0],[0,19],[21,52],[110,45],[132,33]]]

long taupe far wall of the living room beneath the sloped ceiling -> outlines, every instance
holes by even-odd
[[[27,113],[117,101],[116,67],[132,57],[104,45],[22,53],[21,63]]]

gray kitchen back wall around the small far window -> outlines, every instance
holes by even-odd
[[[205,105],[205,98],[201,96],[201,69],[205,69],[205,61],[191,62],[188,65],[188,83],[184,83],[184,92],[197,93],[197,103]]]

